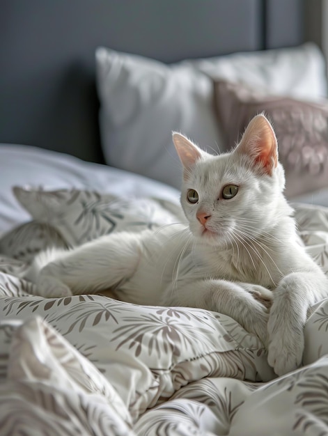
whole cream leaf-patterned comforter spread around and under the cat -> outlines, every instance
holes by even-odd
[[[1,436],[328,434],[328,300],[309,313],[302,368],[276,377],[258,338],[228,316],[44,299],[19,278],[40,249],[181,221],[178,206],[75,189],[15,195],[32,221],[0,240]],[[295,209],[328,271],[328,209]]]

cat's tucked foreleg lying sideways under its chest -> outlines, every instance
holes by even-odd
[[[163,304],[169,306],[199,307],[217,311],[230,316],[240,323],[247,332],[260,338],[263,345],[267,343],[268,312],[264,304],[253,298],[251,285],[233,283],[225,280],[195,280],[178,283],[178,290],[167,290]],[[254,285],[259,293],[262,286]]]

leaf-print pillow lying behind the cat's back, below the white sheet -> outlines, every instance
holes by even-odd
[[[155,198],[127,200],[79,189],[14,187],[13,192],[33,219],[56,228],[71,246],[113,231],[142,231],[185,221],[180,205]]]

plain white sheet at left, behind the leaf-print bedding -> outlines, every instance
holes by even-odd
[[[0,233],[30,219],[11,192],[14,185],[95,189],[127,197],[156,196],[175,203],[180,195],[173,187],[134,173],[14,144],[0,144],[0,182]]]

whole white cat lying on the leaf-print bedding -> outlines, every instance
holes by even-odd
[[[256,116],[235,150],[219,156],[178,133],[173,142],[189,228],[116,233],[48,251],[26,277],[46,297],[110,288],[127,302],[225,313],[267,345],[276,374],[297,368],[307,310],[328,296],[328,281],[297,236],[272,126]]]

